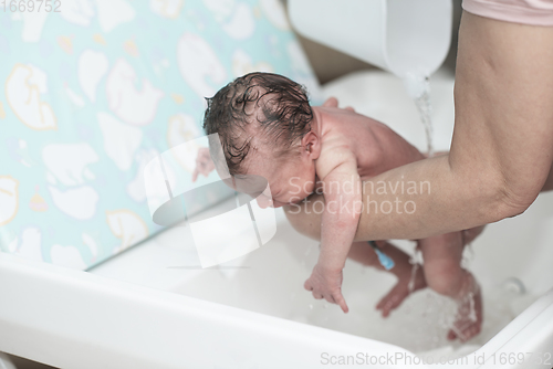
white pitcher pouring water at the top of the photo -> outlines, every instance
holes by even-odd
[[[451,0],[289,0],[295,30],[400,77],[432,74],[449,50]]]

